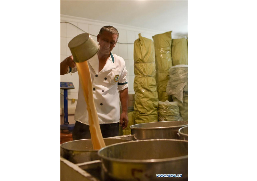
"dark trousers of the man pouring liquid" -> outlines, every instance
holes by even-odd
[[[119,136],[119,123],[100,124],[103,138]],[[91,139],[89,126],[76,121],[72,131],[73,140]]]

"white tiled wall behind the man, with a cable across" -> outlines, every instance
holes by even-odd
[[[83,29],[83,31],[90,33],[91,35],[96,35],[99,33],[101,27],[105,25],[112,25],[117,28],[119,31],[120,43],[134,43],[138,39],[138,34],[141,33],[141,36],[152,39],[152,36],[164,33],[158,32],[156,30],[146,30],[138,27],[128,27],[126,25],[95,21],[91,19],[82,19],[77,17],[69,17],[66,15],[61,15],[61,22],[66,21],[74,24],[75,26]],[[66,57],[71,55],[69,50],[68,43],[69,41],[81,34],[84,33],[79,28],[71,25],[69,23],[61,23],[61,61]],[[92,38],[97,41],[97,37],[92,36]],[[126,69],[128,71],[128,91],[129,94],[134,94],[134,44],[119,44],[117,43],[114,47],[112,53],[117,54],[125,60]],[[78,73],[69,73],[67,75],[61,75],[61,81],[71,81],[73,82],[75,89],[68,90],[68,108],[75,108],[78,98],[78,87],[79,87],[79,76]],[[63,91],[61,90],[61,94]],[[61,96],[61,108],[63,108],[63,96]],[[71,103],[71,99],[76,99],[75,103]]]

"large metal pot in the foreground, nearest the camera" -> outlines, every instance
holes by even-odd
[[[188,142],[140,140],[107,146],[98,151],[103,180],[187,180]],[[156,174],[182,174],[158,178]],[[181,177],[182,176],[182,177]]]

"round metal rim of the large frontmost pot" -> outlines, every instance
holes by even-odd
[[[108,147],[111,147],[111,146],[115,146],[115,145],[119,145],[119,144],[129,144],[129,143],[132,143],[132,142],[144,142],[144,141],[162,141],[162,140],[168,140],[168,141],[176,141],[176,142],[188,142],[186,140],[173,140],[173,139],[151,139],[151,140],[137,140],[137,141],[131,141],[131,142],[123,142],[123,143],[116,143],[116,144],[113,144],[113,145],[109,145],[109,146],[106,146],[104,148],[101,148],[97,154],[98,156],[100,156],[101,158],[105,159],[105,160],[109,160],[109,161],[114,161],[114,162],[123,162],[123,163],[158,163],[158,162],[169,162],[169,161],[175,161],[175,160],[182,160],[182,159],[188,159],[188,155],[184,155],[184,156],[178,156],[178,157],[174,157],[174,158],[163,158],[163,159],[148,159],[148,160],[127,160],[127,159],[119,159],[119,158],[110,158],[110,157],[107,157],[107,156],[103,156],[100,154],[100,152],[103,150],[103,149],[106,149]]]

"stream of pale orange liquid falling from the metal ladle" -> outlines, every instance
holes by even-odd
[[[84,97],[87,103],[89,118],[89,130],[94,150],[105,147],[105,142],[101,133],[95,102],[93,98],[93,86],[87,61],[76,63],[79,79],[83,87]]]

